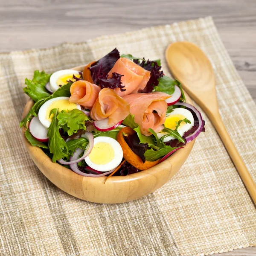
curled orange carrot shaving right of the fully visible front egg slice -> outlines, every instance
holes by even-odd
[[[134,134],[135,131],[130,128],[130,127],[125,127],[122,128],[119,133],[117,134],[116,140],[119,142],[119,144],[122,147],[123,150],[123,157],[125,158],[125,160],[130,163],[131,165],[133,165],[134,167],[136,167],[137,169],[143,171],[146,170],[152,166],[155,166],[159,163],[160,159],[154,161],[154,162],[150,162],[150,161],[145,161],[145,163],[143,163],[143,161],[141,160],[141,158],[135,154],[131,148],[128,146],[128,144],[125,142],[125,139],[123,137],[123,134]]]

